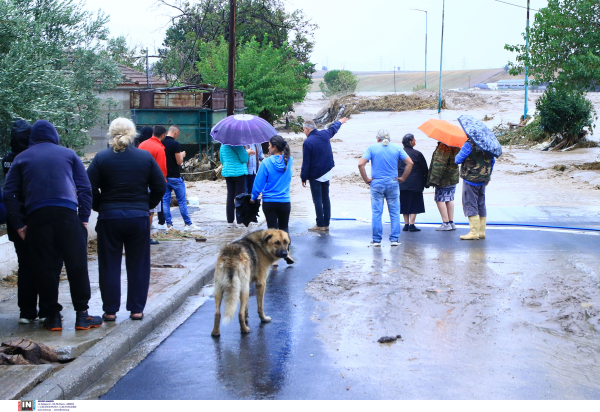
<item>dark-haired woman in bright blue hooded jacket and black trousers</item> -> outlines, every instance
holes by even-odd
[[[262,193],[263,213],[269,229],[280,229],[289,235],[290,212],[292,203],[290,199],[290,185],[292,183],[292,163],[290,146],[281,136],[273,136],[269,140],[269,153],[260,164],[254,186],[252,199],[254,203]],[[293,259],[288,255],[288,263]]]

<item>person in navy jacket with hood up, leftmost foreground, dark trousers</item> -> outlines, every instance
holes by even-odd
[[[58,132],[47,120],[31,127],[29,148],[17,155],[6,178],[8,219],[19,237],[27,239],[35,281],[40,293],[44,327],[62,330],[58,303],[62,256],[76,313],[75,329],[99,327],[102,319],[87,312],[90,280],[87,270],[87,222],[92,187],[77,154],[60,144]]]

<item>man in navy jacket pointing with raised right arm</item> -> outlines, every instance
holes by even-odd
[[[313,232],[327,232],[331,219],[331,203],[329,201],[329,181],[331,170],[335,166],[331,138],[340,130],[342,124],[348,119],[342,118],[326,130],[317,130],[317,125],[312,120],[304,122],[306,140],[302,146],[302,171],[300,178],[302,186],[306,181],[310,184],[310,193],[315,204],[317,224],[308,229]]]

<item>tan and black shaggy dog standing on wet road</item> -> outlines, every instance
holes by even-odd
[[[212,336],[221,334],[221,300],[225,298],[224,323],[233,318],[238,301],[241,301],[239,320],[242,333],[249,333],[248,328],[248,298],[250,297],[250,284],[256,283],[256,302],[258,316],[261,322],[268,323],[271,318],[263,311],[263,300],[269,276],[270,266],[279,259],[289,258],[288,248],[290,237],[283,230],[267,229],[250,233],[229,245],[225,246],[217,259],[215,269],[215,327]]]

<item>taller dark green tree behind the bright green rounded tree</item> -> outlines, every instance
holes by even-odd
[[[179,0],[159,0],[177,11],[167,29],[162,59],[155,69],[171,83],[201,83],[195,62],[200,60],[200,45],[224,39],[229,41],[229,0],[199,0],[195,4]],[[313,33],[318,26],[301,10],[287,12],[282,0],[238,0],[236,44],[255,38],[262,45],[289,47],[292,57],[302,64],[303,75],[310,78],[314,65],[310,54],[314,48]],[[266,43],[264,43],[266,42]]]

